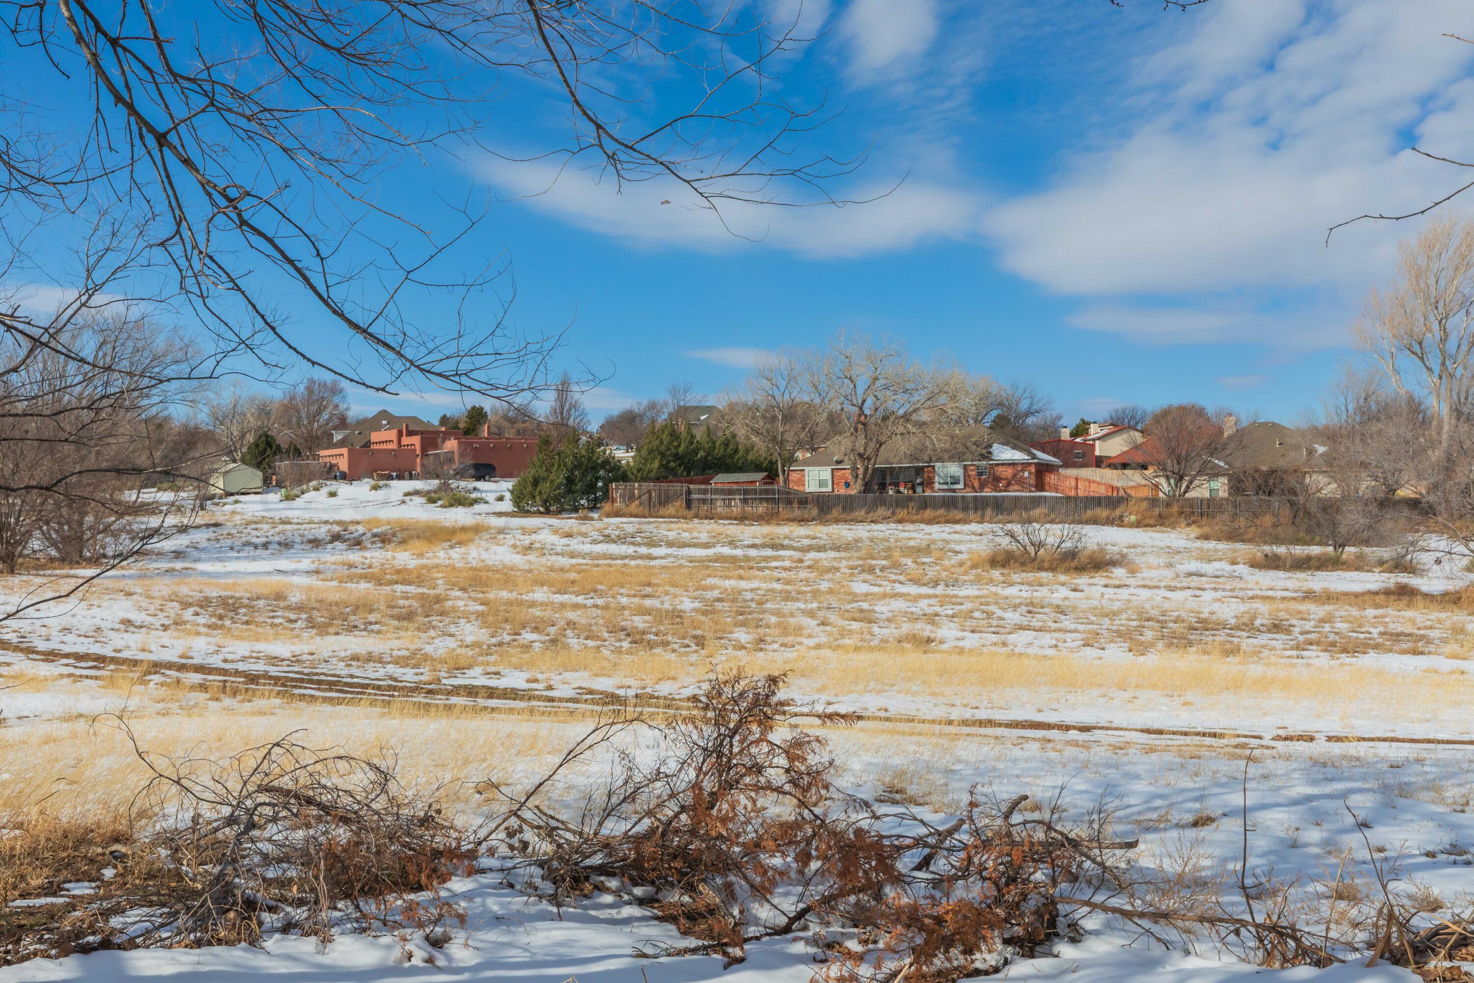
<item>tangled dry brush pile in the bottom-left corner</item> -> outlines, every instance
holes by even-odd
[[[0,965],[256,943],[267,931],[323,942],[345,928],[419,931],[442,945],[448,926],[464,921],[438,889],[469,872],[475,852],[433,799],[405,793],[391,768],[290,738],[226,759],[136,752],[150,778],[125,825],[40,822],[10,837],[46,861],[31,861],[18,890],[35,887],[38,871],[55,880],[111,864],[78,878],[85,893],[7,902]],[[99,847],[106,840],[113,844]]]

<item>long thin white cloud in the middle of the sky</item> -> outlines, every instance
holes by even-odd
[[[979,220],[979,202],[970,192],[924,180],[907,180],[893,190],[889,184],[855,189],[850,197],[879,196],[862,205],[774,208],[731,202],[718,215],[674,183],[618,187],[588,171],[560,172],[548,161],[486,158],[479,174],[531,208],[573,225],[637,243],[712,252],[761,243],[808,256],[861,256],[971,236]]]

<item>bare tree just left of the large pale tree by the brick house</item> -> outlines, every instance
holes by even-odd
[[[778,461],[778,483],[789,482],[794,454],[830,436],[831,414],[809,393],[808,357],[780,351],[753,365],[741,389],[722,402],[721,416],[737,436]]]

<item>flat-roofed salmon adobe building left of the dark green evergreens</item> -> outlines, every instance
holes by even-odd
[[[367,447],[330,447],[317,457],[348,480],[371,475],[419,477],[445,473],[457,477],[516,477],[538,451],[535,436],[491,436],[486,426],[476,436],[447,427],[402,424],[374,430]]]

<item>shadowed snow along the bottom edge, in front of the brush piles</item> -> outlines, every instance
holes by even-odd
[[[551,905],[503,887],[497,875],[461,878],[447,886],[469,918],[464,933],[442,946],[392,936],[339,937],[327,946],[311,939],[276,936],[251,946],[199,951],[100,952],[0,968],[0,980],[43,983],[170,979],[180,983],[380,983],[399,980],[516,980],[526,983],[812,983],[812,948],[802,939],[747,946],[747,958],[724,968],[716,956],[634,958],[650,943],[684,942],[638,906],[594,895],[576,908]],[[1417,983],[1406,970],[1338,965],[1331,970],[1266,971],[1182,952],[1123,948],[1129,939],[1092,936],[1064,945],[1057,958],[1008,967],[1007,980],[1067,983]]]

